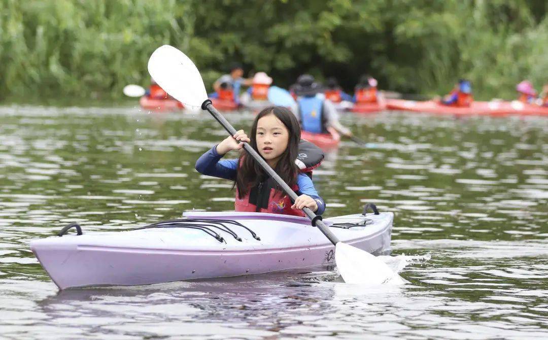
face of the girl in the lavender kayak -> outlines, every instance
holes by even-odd
[[[279,158],[287,149],[289,131],[275,115],[266,115],[257,122],[255,140],[259,154],[271,167],[276,167]]]

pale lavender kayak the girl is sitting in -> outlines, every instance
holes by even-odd
[[[305,217],[247,212],[186,212],[184,217],[130,231],[33,240],[31,249],[61,290],[335,264],[335,247]],[[383,212],[324,222],[341,241],[370,253],[384,253],[390,250],[392,220],[393,213]]]

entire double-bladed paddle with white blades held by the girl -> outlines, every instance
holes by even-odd
[[[230,135],[236,134],[236,129],[226,121],[225,117],[213,107],[212,101],[208,99],[206,87],[196,65],[180,50],[169,45],[156,49],[150,56],[149,73],[159,86],[172,95],[173,98],[187,107],[202,107],[202,110],[209,111]],[[298,197],[252,146],[244,143],[243,148],[293,201]],[[340,242],[326,224],[322,222],[321,216],[316,216],[309,208],[302,210],[312,220],[312,225],[317,226],[335,245],[335,262],[339,273],[346,282],[368,284],[383,284],[388,281],[397,284],[403,282],[401,277],[395,274],[380,259],[375,258],[366,251]]]

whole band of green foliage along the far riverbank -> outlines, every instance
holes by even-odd
[[[548,73],[543,0],[4,0],[0,96],[121,97],[146,86],[166,43],[207,86],[232,61],[281,86],[307,72],[351,90],[367,72],[381,88],[442,94],[466,77],[483,99]]]

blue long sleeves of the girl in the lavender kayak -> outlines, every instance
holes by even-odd
[[[196,170],[204,175],[219,177],[224,179],[236,180],[236,169],[238,168],[238,160],[222,160],[222,156],[217,152],[217,145],[200,156],[196,161]],[[326,211],[326,203],[322,197],[318,195],[312,179],[304,173],[299,173],[297,176],[297,185],[299,186],[300,194],[308,195],[316,201],[318,205],[317,215],[323,214]]]

